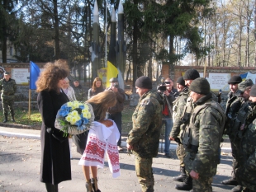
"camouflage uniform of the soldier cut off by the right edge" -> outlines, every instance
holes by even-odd
[[[235,170],[235,175],[239,174],[244,180],[239,180],[241,185],[250,190],[256,190],[256,104],[250,111],[247,119],[253,120],[248,127],[244,126],[243,137],[239,145],[239,169]]]

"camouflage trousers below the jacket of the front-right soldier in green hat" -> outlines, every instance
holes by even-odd
[[[212,192],[212,177],[199,176],[198,180],[193,180],[193,192]]]

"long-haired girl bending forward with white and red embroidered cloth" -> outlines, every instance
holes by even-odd
[[[74,143],[77,145],[78,152],[81,155],[83,155],[83,157],[81,158],[81,160],[79,162],[79,165],[82,165],[83,175],[86,179],[87,191],[88,192],[92,192],[92,191],[100,192],[100,190],[97,187],[97,166],[102,167],[102,165],[98,165],[97,162],[102,162],[102,161],[90,162],[90,160],[88,160],[90,158],[87,158],[87,155],[88,155],[87,152],[90,151],[90,149],[87,148],[87,145],[92,144],[94,146],[93,151],[89,152],[90,157],[92,157],[93,154],[95,153],[95,155],[92,157],[93,159],[97,159],[98,158],[97,155],[99,153],[103,152],[102,155],[104,155],[105,152],[104,152],[104,148],[102,148],[102,146],[98,146],[97,143],[90,140],[92,137],[88,138],[88,134],[89,135],[91,134],[91,136],[94,135],[94,137],[97,138],[97,141],[101,141],[104,143],[104,139],[103,138],[101,139],[101,136],[97,134],[97,131],[98,131],[97,129],[102,128],[102,124],[103,124],[103,129],[104,128],[107,129],[112,126],[111,130],[112,130],[113,134],[115,134],[115,133],[119,134],[115,122],[111,121],[110,119],[105,119],[108,108],[116,105],[116,95],[113,91],[103,91],[101,93],[98,93],[96,96],[92,96],[92,98],[89,99],[87,101],[87,103],[92,105],[93,113],[95,115],[94,123],[92,123],[92,124],[94,124],[94,127],[92,125],[92,129],[90,129],[89,133],[81,133],[78,135],[74,135],[73,138],[75,140]],[[104,131],[100,130],[99,132],[104,135]],[[118,135],[118,138],[119,138],[119,135]],[[111,139],[108,138],[107,140],[110,141]],[[115,145],[116,145],[116,139],[114,139],[114,142],[113,142],[113,146],[115,146]],[[96,150],[97,148],[101,148],[101,150],[100,150],[101,152],[97,152],[97,150]],[[105,148],[105,150],[106,150],[106,148]],[[111,149],[109,149],[109,150],[111,150]],[[116,146],[115,152],[117,153],[116,155],[118,156],[117,146]],[[104,162],[104,160],[103,160],[103,162]],[[118,166],[119,166],[119,164],[118,164]],[[90,172],[92,172],[92,179],[90,176],[91,175]]]

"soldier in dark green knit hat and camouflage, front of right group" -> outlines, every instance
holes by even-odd
[[[225,113],[220,104],[212,100],[210,84],[205,78],[195,79],[189,90],[193,110],[183,136],[185,167],[192,177],[191,191],[211,192],[212,177],[216,175],[219,162]]]

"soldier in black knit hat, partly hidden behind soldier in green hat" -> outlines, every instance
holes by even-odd
[[[188,69],[183,77],[185,85],[189,87],[192,81],[194,81],[198,77],[200,77],[200,75],[196,69]],[[175,185],[175,188],[177,190],[191,190],[192,178],[190,176],[187,176],[185,172],[184,157],[186,153],[183,148],[183,144],[181,143],[181,135],[183,134],[184,128],[189,123],[189,118],[192,111],[192,102],[189,97],[189,91],[187,90],[187,88],[183,91],[183,93],[180,93],[178,102],[174,102],[175,108],[177,109],[177,115],[174,118],[173,129],[170,133],[169,138],[170,140],[175,140],[176,142],[178,142],[178,148],[176,149],[176,153],[178,159],[180,160],[181,175],[173,177],[173,180],[183,182],[182,185]]]

